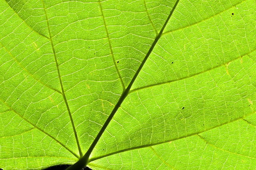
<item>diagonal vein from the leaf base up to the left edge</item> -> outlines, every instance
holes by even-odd
[[[66,150],[68,150],[70,153],[72,153],[74,156],[76,156],[77,158],[79,158],[79,156],[74,153],[72,150],[68,149],[63,143],[61,143],[60,141],[58,141],[56,138],[54,138],[52,135],[46,133],[44,130],[40,129],[39,127],[37,127],[36,125],[34,125],[32,122],[28,121],[25,117],[23,117],[22,115],[20,115],[17,111],[15,111],[14,109],[12,109],[11,106],[9,106],[6,102],[4,102],[4,100],[2,100],[2,98],[0,98],[0,101],[5,104],[5,106],[7,106],[11,111],[13,111],[16,115],[18,115],[19,117],[21,117],[24,121],[28,122],[30,125],[32,125],[33,127],[35,127],[36,129],[38,129],[39,131],[41,131],[42,133],[44,133],[45,135],[47,135],[48,137],[52,138],[54,141],[56,141],[58,144],[60,144],[62,147],[64,147]]]

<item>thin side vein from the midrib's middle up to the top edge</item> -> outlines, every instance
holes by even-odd
[[[112,56],[112,60],[113,60],[113,62],[114,62],[114,66],[115,66],[115,68],[116,68],[116,72],[117,72],[117,74],[118,74],[118,76],[119,76],[119,79],[120,79],[120,81],[121,81],[121,83],[122,83],[123,92],[124,92],[124,90],[125,90],[124,81],[123,81],[123,79],[122,79],[122,77],[121,77],[121,74],[120,74],[120,72],[119,72],[119,70],[118,70],[118,67],[117,67],[117,64],[116,64],[116,60],[115,60],[115,58],[114,58],[114,53],[113,53],[113,49],[112,49],[110,37],[109,37],[109,34],[108,34],[108,28],[107,28],[107,24],[106,24],[106,20],[105,20],[104,14],[103,14],[101,2],[100,2],[100,0],[98,0],[98,2],[99,2],[99,5],[100,5],[100,12],[101,12],[101,15],[102,15],[102,20],[103,20],[104,27],[105,27],[105,30],[106,30],[106,35],[107,35],[107,38],[108,38],[108,45],[109,45],[109,48],[110,48],[110,53],[111,53],[111,56]]]

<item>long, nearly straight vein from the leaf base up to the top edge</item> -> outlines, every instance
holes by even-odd
[[[52,35],[51,35],[51,31],[50,31],[50,25],[49,25],[48,17],[47,17],[47,14],[46,14],[46,8],[44,6],[44,0],[42,0],[42,4],[43,4],[43,7],[44,7],[44,14],[45,14],[46,23],[47,23],[47,27],[48,27],[48,32],[49,32],[49,36],[50,36],[49,40],[50,40],[51,45],[52,45],[52,52],[53,52],[53,55],[54,55],[54,59],[55,59],[55,63],[56,63],[56,68],[57,68],[58,76],[59,76],[59,80],[60,80],[62,96],[63,96],[64,102],[65,102],[67,110],[68,110],[68,115],[70,117],[70,121],[72,123],[74,135],[76,137],[77,147],[78,147],[78,150],[79,150],[79,154],[80,154],[80,157],[82,157],[83,154],[82,154],[82,150],[81,150],[81,147],[80,147],[80,144],[79,144],[79,141],[78,141],[78,136],[77,136],[77,133],[76,133],[76,128],[75,128],[75,125],[74,125],[74,121],[73,121],[73,118],[72,118],[72,115],[71,115],[71,112],[70,112],[70,109],[69,109],[69,106],[68,106],[68,101],[66,99],[66,95],[65,95],[64,88],[63,88],[63,85],[62,85],[62,80],[61,80],[61,76],[60,76],[60,69],[59,69],[59,65],[58,65],[58,61],[57,61],[57,57],[56,57],[56,53],[55,53],[55,49],[54,49],[54,45],[53,45],[53,41],[52,41]]]

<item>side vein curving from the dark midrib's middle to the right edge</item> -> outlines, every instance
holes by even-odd
[[[250,53],[252,53],[252,52],[254,52],[254,51],[256,51],[256,49],[253,49],[252,51],[249,51],[248,53],[245,53],[244,55],[238,56],[238,57],[236,57],[236,58],[234,58],[234,59],[232,59],[232,60],[230,60],[230,61],[227,61],[226,63],[223,63],[223,64],[220,64],[220,65],[214,66],[214,67],[212,67],[212,68],[208,68],[208,69],[203,70],[203,71],[201,71],[201,72],[197,72],[197,73],[195,73],[195,74],[191,74],[191,75],[188,75],[188,76],[185,76],[185,77],[182,77],[182,78],[178,78],[178,79],[175,79],[175,80],[169,80],[169,81],[166,81],[166,82],[160,82],[160,83],[156,83],[156,84],[150,84],[150,85],[148,85],[148,86],[143,86],[143,87],[140,87],[140,88],[135,88],[135,89],[133,89],[133,90],[130,90],[129,93],[136,92],[136,91],[138,91],[138,90],[142,90],[142,89],[145,89],[145,88],[150,88],[150,87],[153,87],[153,86],[159,86],[159,85],[167,84],[167,83],[171,83],[171,82],[177,82],[177,81],[180,81],[180,80],[184,80],[184,79],[187,79],[187,78],[190,78],[190,77],[197,76],[198,74],[202,74],[202,73],[204,73],[204,72],[208,72],[208,71],[213,70],[213,69],[215,69],[215,68],[219,68],[220,66],[224,66],[225,64],[228,64],[228,63],[230,63],[230,62],[236,61],[236,60],[238,60],[238,59],[240,59],[240,58],[242,58],[242,57],[244,57],[244,56],[246,56],[246,55],[248,55],[248,54],[250,54]]]

